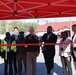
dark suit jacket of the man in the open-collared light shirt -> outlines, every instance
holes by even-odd
[[[44,43],[56,43],[57,41],[57,36],[54,33],[51,33],[49,39],[47,40],[48,34],[45,33],[42,37],[42,41]],[[49,51],[51,55],[55,55],[55,45],[44,45],[45,50],[43,52]]]

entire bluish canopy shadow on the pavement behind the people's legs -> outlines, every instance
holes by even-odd
[[[22,75],[24,75],[24,67],[22,71]],[[58,64],[54,63],[54,72],[56,75],[62,75],[62,67]],[[4,73],[4,63],[0,64],[0,75],[3,75]],[[37,75],[47,75],[47,70],[44,62],[37,62]]]

